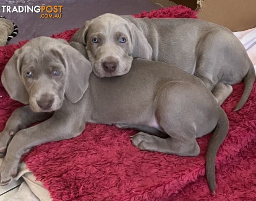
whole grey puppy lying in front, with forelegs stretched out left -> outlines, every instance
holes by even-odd
[[[144,59],[134,59],[120,77],[99,78],[91,72],[90,62],[62,39],[42,36],[16,50],[2,83],[11,98],[29,106],[16,109],[0,134],[1,157],[8,147],[1,185],[17,174],[21,156],[32,147],[76,137],[91,122],[136,127],[141,131],[131,141],[139,149],[180,156],[199,155],[196,138],[214,130],[206,174],[215,190],[215,158],[229,124],[199,78]]]

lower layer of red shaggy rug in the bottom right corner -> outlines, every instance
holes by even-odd
[[[255,201],[256,200],[256,141],[240,152],[217,173],[218,193],[211,196],[206,178],[186,186],[180,193],[163,201]]]

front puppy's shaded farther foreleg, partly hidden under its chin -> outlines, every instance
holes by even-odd
[[[0,158],[5,155],[8,143],[19,130],[38,121],[49,119],[51,116],[52,113],[33,112],[29,106],[17,108],[13,111],[6,122],[5,129],[0,133]]]

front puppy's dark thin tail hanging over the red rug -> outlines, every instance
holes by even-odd
[[[219,146],[227,136],[229,123],[226,113],[221,109],[219,121],[214,129],[212,138],[206,152],[206,177],[210,190],[215,194],[216,180],[215,180],[215,159]]]

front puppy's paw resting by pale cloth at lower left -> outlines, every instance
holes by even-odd
[[[0,186],[5,186],[18,173],[18,162],[4,158],[0,166]]]

